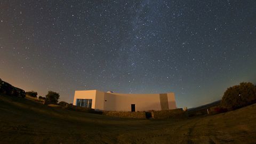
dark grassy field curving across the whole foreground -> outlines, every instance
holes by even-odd
[[[189,119],[129,119],[0,94],[0,143],[256,143],[256,105]]]

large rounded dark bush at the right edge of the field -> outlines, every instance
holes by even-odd
[[[228,109],[241,108],[256,101],[256,88],[252,83],[240,83],[229,87],[224,93],[221,105]]]

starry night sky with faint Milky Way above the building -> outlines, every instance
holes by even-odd
[[[256,83],[256,1],[2,0],[0,78],[67,102],[94,89],[213,102]]]

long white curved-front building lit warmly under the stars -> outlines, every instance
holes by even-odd
[[[73,105],[106,111],[148,111],[176,108],[174,93],[123,94],[98,90],[75,91]]]

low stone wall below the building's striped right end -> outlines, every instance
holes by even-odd
[[[151,116],[154,119],[164,119],[164,118],[186,118],[187,113],[183,111],[182,108],[171,109],[171,110],[161,110],[161,111],[150,111]]]

